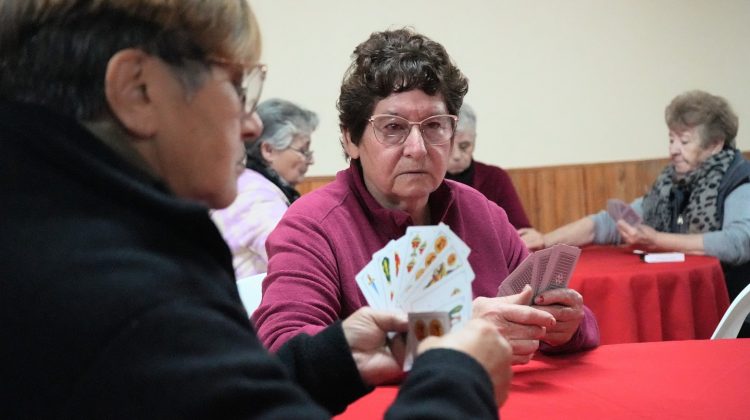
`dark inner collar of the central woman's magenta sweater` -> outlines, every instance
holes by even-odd
[[[349,169],[340,172],[339,176],[345,177],[349,188],[353,191],[362,206],[367,209],[374,226],[381,226],[388,233],[401,236],[407,227],[414,224],[411,216],[405,211],[385,208],[375,200],[375,197],[372,196],[365,185],[359,160],[352,159]],[[432,224],[436,225],[444,221],[448,210],[453,205],[454,199],[452,186],[443,180],[427,199],[427,207],[429,208]]]

